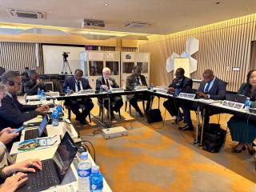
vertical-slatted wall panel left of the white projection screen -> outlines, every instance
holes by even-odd
[[[0,66],[22,73],[25,66],[43,73],[42,46],[39,46],[39,67],[36,66],[35,43],[0,42]]]

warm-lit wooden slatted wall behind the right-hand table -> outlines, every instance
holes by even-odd
[[[229,82],[228,90],[238,90],[252,68],[251,58],[255,58],[252,54],[256,54],[251,51],[252,42],[256,41],[256,14],[176,34],[151,35],[148,42],[139,42],[141,52],[150,52],[150,82],[156,86],[170,83],[173,75],[166,73],[166,58],[173,52],[182,54],[190,36],[199,39],[199,51],[193,55],[198,60],[198,70],[191,78],[202,79],[202,72],[209,68],[218,78]],[[233,71],[233,67],[240,70]],[[157,74],[162,74],[161,78]]]

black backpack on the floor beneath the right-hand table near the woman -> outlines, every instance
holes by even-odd
[[[226,130],[222,130],[219,124],[210,123],[204,127],[202,149],[211,153],[218,153],[226,141]]]

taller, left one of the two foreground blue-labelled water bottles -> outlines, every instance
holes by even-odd
[[[88,153],[82,152],[80,162],[78,163],[78,192],[90,191],[91,162],[88,159]]]

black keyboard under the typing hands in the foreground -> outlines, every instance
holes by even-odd
[[[56,174],[56,168],[54,167],[54,161],[47,159],[42,161],[42,170],[38,170],[35,173],[29,174],[31,179],[32,189],[47,189],[50,186],[56,186],[59,184],[58,175]]]

